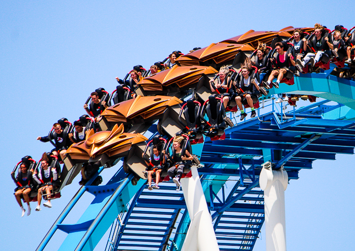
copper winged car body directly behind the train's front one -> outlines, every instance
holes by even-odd
[[[137,95],[133,99],[107,107],[101,114],[99,126],[101,130],[108,130],[116,124],[141,125],[160,119],[168,107],[179,106],[180,109],[181,103],[176,97]]]

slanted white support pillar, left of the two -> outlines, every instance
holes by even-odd
[[[186,206],[191,224],[182,247],[182,251],[219,251],[212,218],[209,214],[206,198],[197,167],[191,167],[192,177],[182,178]]]

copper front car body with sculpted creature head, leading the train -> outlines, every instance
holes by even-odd
[[[87,162],[101,154],[107,154],[109,158],[119,158],[126,156],[132,145],[148,140],[139,133],[124,133],[123,129],[122,124],[115,125],[112,131],[94,133],[91,129],[85,141],[73,144],[65,154],[76,163]]]

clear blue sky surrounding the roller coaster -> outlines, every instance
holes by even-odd
[[[79,189],[75,180],[53,208],[20,217],[10,172],[25,155],[40,159],[50,144],[35,140],[52,124],[83,115],[83,104],[98,87],[112,92],[115,77],[133,65],[149,68],[172,51],[187,53],[250,29],[278,30],[355,25],[352,2],[319,1],[2,1],[0,8],[0,85],[3,95],[0,138],[3,177],[0,195],[2,250],[19,241],[34,250]],[[316,161],[286,191],[288,250],[353,250],[354,156]],[[111,172],[114,170],[111,170]],[[109,174],[104,176],[108,181]],[[88,195],[77,212],[91,201]],[[86,203],[86,204],[85,204]],[[85,205],[83,205],[85,204]],[[73,222],[77,219],[71,217]],[[19,235],[26,238],[19,238]],[[53,245],[60,243],[59,234]],[[265,250],[263,240],[255,250]],[[53,250],[56,250],[54,247]],[[102,248],[101,248],[102,250]]]

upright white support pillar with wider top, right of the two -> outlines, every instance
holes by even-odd
[[[289,176],[283,167],[272,170],[268,163],[259,177],[264,190],[266,251],[286,251],[285,190]]]

